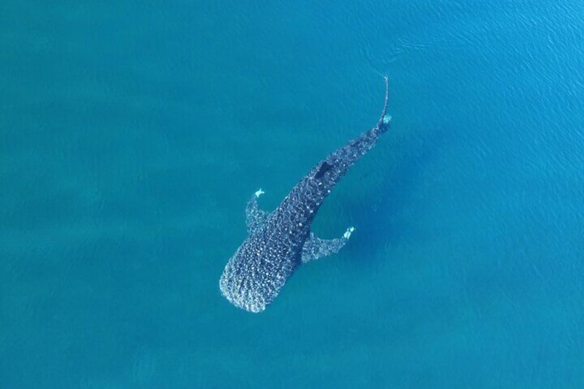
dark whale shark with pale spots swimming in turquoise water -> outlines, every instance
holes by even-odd
[[[225,265],[219,280],[220,291],[231,304],[252,313],[264,311],[300,265],[337,253],[351,237],[354,227],[340,238],[317,238],[311,232],[311,224],[331,189],[387,131],[391,121],[386,114],[387,76],[384,81],[382,115],[373,128],[318,162],[274,211],[268,213],[258,206],[262,189],[253,193],[245,209],[248,236]]]

